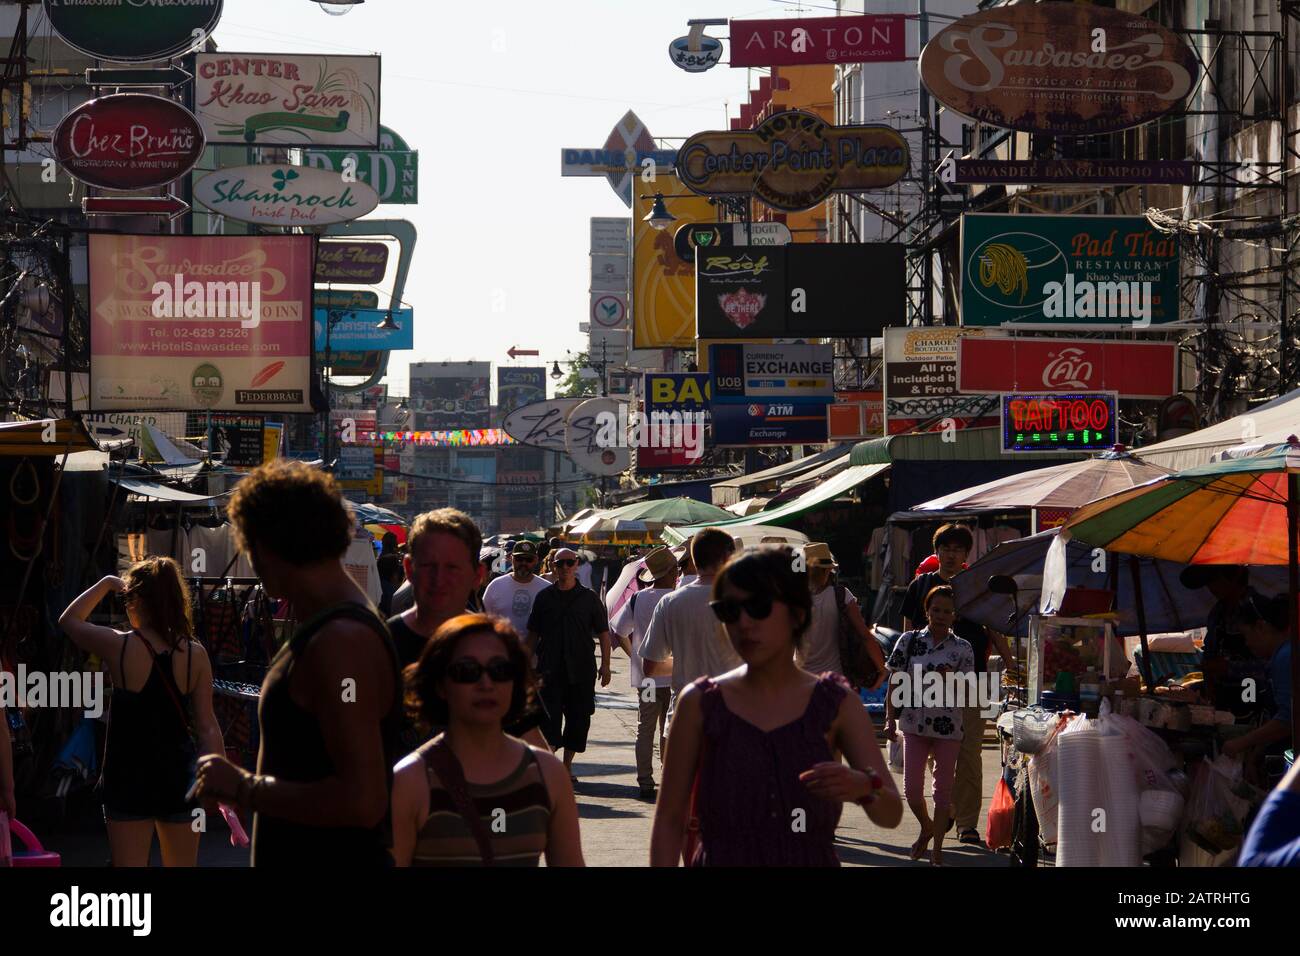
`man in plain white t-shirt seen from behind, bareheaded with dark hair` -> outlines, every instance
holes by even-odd
[[[670,723],[677,695],[686,684],[699,678],[715,678],[741,665],[727,631],[708,606],[714,578],[734,550],[736,541],[722,528],[705,528],[696,535],[690,541],[690,557],[699,578],[663,598],[650,618],[641,643],[641,657],[649,676],[667,671],[664,665],[672,658]]]

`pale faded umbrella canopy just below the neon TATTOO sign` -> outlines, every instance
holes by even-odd
[[[1009,475],[915,505],[913,511],[1006,511],[1010,509],[1076,509],[1169,471],[1115,449],[1082,462]]]

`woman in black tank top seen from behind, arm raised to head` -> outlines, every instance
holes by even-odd
[[[105,594],[121,593],[133,628],[86,618]],[[194,866],[200,810],[186,795],[199,747],[221,750],[212,710],[212,667],[192,639],[190,598],[170,558],[138,562],[73,601],[60,626],[104,661],[113,680],[100,793],[114,866],[147,866],[157,832],[166,866]]]

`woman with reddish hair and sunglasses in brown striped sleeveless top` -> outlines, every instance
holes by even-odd
[[[407,706],[446,732],[398,763],[398,866],[582,866],[577,803],[554,754],[502,726],[533,706],[536,678],[507,620],[462,614],[406,672]]]

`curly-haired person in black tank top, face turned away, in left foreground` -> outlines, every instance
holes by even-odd
[[[351,514],[329,475],[285,459],[243,479],[226,511],[300,624],[261,687],[257,773],[205,754],[198,796],[255,813],[254,866],[391,865],[402,695],[387,627],[343,567]]]

